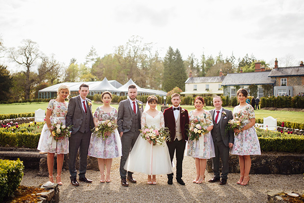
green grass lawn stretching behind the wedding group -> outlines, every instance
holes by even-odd
[[[102,104],[93,103],[92,110],[95,112],[96,108]],[[35,112],[38,108],[46,110],[48,102],[38,102],[38,103],[10,103],[10,104],[0,104],[0,114],[11,114],[11,113],[30,113]],[[118,109],[118,104],[112,104],[113,107]],[[194,110],[193,105],[182,105],[182,108],[188,111]],[[211,110],[213,106],[206,106],[204,109]],[[157,106],[160,110],[160,105]],[[233,108],[227,107],[227,109],[233,111]],[[278,121],[290,121],[297,123],[304,123],[304,112],[297,111],[271,111],[271,110],[255,110],[255,118],[262,119],[263,117],[272,116],[277,118]]]

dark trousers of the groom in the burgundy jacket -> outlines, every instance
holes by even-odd
[[[182,177],[182,160],[184,159],[184,152],[186,147],[186,141],[184,140],[175,140],[173,142],[167,142],[167,146],[169,149],[171,163],[174,158],[174,152],[176,152],[176,159],[177,159],[177,176],[176,178]],[[173,178],[173,173],[168,174],[168,179]]]

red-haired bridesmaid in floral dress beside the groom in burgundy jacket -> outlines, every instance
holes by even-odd
[[[188,140],[186,155],[195,158],[196,178],[193,183],[201,184],[205,180],[205,170],[207,159],[215,157],[214,145],[210,131],[213,129],[212,116],[209,111],[203,109],[204,100],[202,97],[196,97],[194,100],[195,110],[190,111],[189,121],[201,120],[206,124],[208,131],[199,140]]]

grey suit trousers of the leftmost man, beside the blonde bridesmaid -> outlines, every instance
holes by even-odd
[[[88,149],[91,139],[91,131],[72,134],[69,138],[69,170],[71,179],[76,178],[76,156],[79,149],[79,178],[84,178],[87,170]]]

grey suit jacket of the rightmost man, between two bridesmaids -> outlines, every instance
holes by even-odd
[[[211,113],[213,125],[215,126],[216,125],[216,122],[214,121],[215,109],[212,109],[209,112]],[[226,116],[223,116],[223,112],[226,112]],[[224,142],[225,146],[228,147],[229,143],[233,144],[233,142],[234,142],[234,133],[232,130],[226,131],[225,127],[227,126],[228,121],[233,119],[233,116],[232,116],[232,111],[230,111],[228,109],[223,108],[223,112],[222,112],[221,119],[219,121],[220,131],[221,131],[221,136],[222,136],[223,142]],[[213,127],[213,129],[214,129],[214,127]],[[213,129],[211,130],[211,135],[212,135],[213,141],[215,141],[215,135],[214,135]]]

